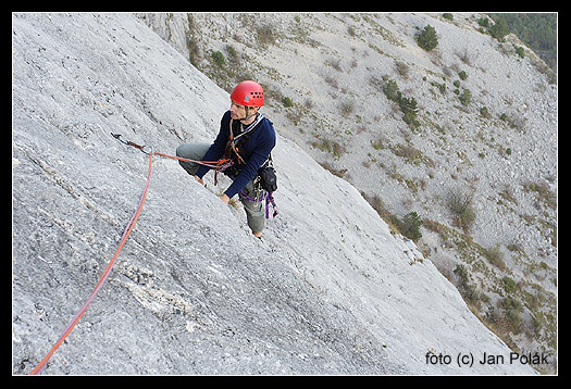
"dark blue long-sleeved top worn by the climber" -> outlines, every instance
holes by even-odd
[[[202,161],[218,161],[224,155],[226,145],[229,139],[229,111],[224,113],[220,121],[220,131],[216,139],[210,146]],[[234,137],[239,135],[240,122],[234,121],[233,134]],[[234,183],[226,189],[225,193],[231,199],[238,193],[244,187],[252,180],[258,174],[260,166],[268,160],[270,152],[275,146],[275,130],[272,122],[263,117],[260,123],[250,131],[249,139],[241,145],[240,156],[246,162],[246,165],[240,165],[240,173],[234,179]],[[210,171],[210,167],[200,165],[196,175],[202,178],[204,174]]]

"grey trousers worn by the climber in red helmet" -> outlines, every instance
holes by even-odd
[[[200,161],[210,149],[209,143],[184,143],[176,148],[176,156],[186,158],[189,160]],[[186,161],[178,161],[181,166],[191,176],[196,174],[199,164]],[[252,199],[260,199],[263,196],[263,189],[259,184],[255,184],[253,180],[249,181],[244,188],[243,192]],[[240,202],[246,211],[246,217],[248,219],[248,226],[253,233],[260,233],[265,227],[265,210],[263,202],[253,202],[248,200],[241,193],[238,193]]]

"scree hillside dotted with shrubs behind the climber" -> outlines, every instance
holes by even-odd
[[[420,250],[487,326],[556,353],[557,77],[514,35],[477,13],[139,17],[226,90],[260,80],[285,137],[392,227],[422,219]]]

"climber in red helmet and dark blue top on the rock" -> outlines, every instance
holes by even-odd
[[[220,197],[227,204],[238,195],[255,237],[260,238],[265,226],[261,198],[264,195],[258,171],[270,160],[275,146],[272,122],[263,116],[260,108],[264,104],[262,87],[251,80],[239,83],[231,95],[231,108],[222,116],[220,131],[212,145],[184,143],[176,149],[176,155],[189,160],[216,161],[231,158],[233,165],[224,174],[234,181]],[[232,128],[232,133],[231,129]],[[179,161],[185,171],[204,185],[202,177],[211,167]]]

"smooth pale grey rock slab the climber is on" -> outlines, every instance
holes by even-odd
[[[145,185],[148,155],[110,131],[172,154],[213,139],[228,95],[133,15],[12,17],[12,371],[26,374]],[[535,374],[351,185],[283,137],[273,158],[280,215],[261,243],[238,205],[154,156],[113,274],[44,374]]]

